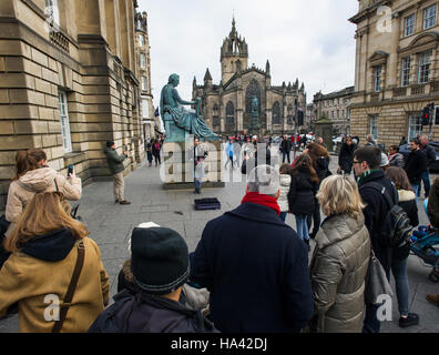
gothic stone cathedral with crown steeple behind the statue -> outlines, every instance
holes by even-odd
[[[221,47],[221,81],[213,83],[206,69],[203,85],[193,81],[192,97],[202,98],[202,115],[217,134],[245,134],[252,122],[252,99],[258,100],[262,134],[294,133],[298,109],[305,111],[305,85],[298,79],[292,84],[272,85],[270,65],[265,70],[248,65],[248,45],[236,31],[235,18],[232,30]]]

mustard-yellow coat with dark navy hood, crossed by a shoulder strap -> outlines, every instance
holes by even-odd
[[[34,236],[12,253],[0,270],[0,317],[18,302],[20,332],[51,332],[54,321],[47,320],[48,307],[54,307],[55,300],[62,304],[78,258],[76,244],[63,229]],[[61,329],[64,333],[85,332],[109,303],[109,275],[100,250],[89,237],[83,244],[84,264]]]

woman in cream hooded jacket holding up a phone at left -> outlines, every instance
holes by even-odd
[[[60,191],[65,200],[81,199],[81,179],[74,172],[65,179],[48,166],[45,152],[41,149],[18,151],[16,155],[16,176],[9,185],[6,219],[11,222],[6,235],[8,236],[19,220],[28,201],[37,192]]]

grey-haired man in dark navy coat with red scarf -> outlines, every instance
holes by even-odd
[[[222,332],[299,332],[313,316],[308,253],[277,204],[278,172],[258,165],[233,211],[207,222],[190,280],[211,291]]]

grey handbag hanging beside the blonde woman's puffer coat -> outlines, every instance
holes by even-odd
[[[366,274],[365,302],[380,304],[377,302],[377,298],[384,294],[390,297],[394,296],[386,272],[379,260],[375,256],[374,251],[370,250],[369,266]]]

